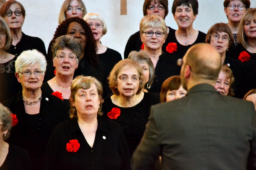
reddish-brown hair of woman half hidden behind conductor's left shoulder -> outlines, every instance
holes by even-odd
[[[181,79],[180,76],[172,76],[164,80],[164,83],[161,88],[160,92],[160,100],[161,103],[164,103],[166,101],[166,92],[168,90],[178,90],[181,86]]]

